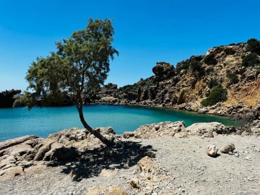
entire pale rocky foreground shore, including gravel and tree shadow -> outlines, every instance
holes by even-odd
[[[260,190],[260,127],[242,136],[235,127],[218,122],[185,127],[183,121],[166,121],[123,135],[116,135],[111,127],[96,130],[114,137],[115,145],[108,150],[78,128],[46,138],[25,136],[0,142],[1,193],[257,195]],[[209,144],[227,143],[235,147],[229,154],[207,155]]]

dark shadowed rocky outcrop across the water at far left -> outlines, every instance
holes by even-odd
[[[0,108],[11,108],[15,101],[15,96],[20,94],[21,90],[9,90],[0,92]]]

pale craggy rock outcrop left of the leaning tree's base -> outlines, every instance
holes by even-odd
[[[111,127],[96,128],[102,135],[112,138]],[[98,138],[85,129],[63,130],[46,138],[25,136],[0,142],[0,179],[23,174],[39,173],[48,165],[74,161],[90,145],[100,145]]]

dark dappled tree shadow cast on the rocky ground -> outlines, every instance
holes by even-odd
[[[134,166],[149,150],[156,152],[151,145],[143,146],[140,142],[117,140],[109,149],[102,146],[86,149],[79,154],[76,161],[63,161],[49,166],[63,165],[61,173],[70,175],[74,181],[80,181],[98,176],[102,169],[127,169]]]

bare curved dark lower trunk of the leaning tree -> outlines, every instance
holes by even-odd
[[[80,121],[83,124],[83,126],[95,137],[99,138],[101,142],[103,142],[107,147],[111,147],[113,145],[113,141],[108,140],[107,138],[103,137],[98,131],[92,129],[87,122],[84,119],[82,106],[78,108],[79,114],[80,114]]]

